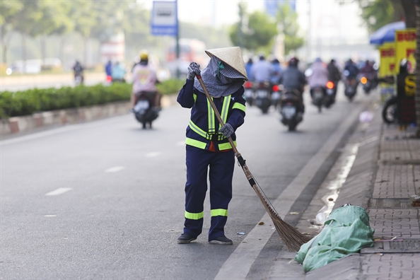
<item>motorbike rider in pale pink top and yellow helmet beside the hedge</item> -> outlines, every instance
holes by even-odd
[[[151,105],[160,108],[161,94],[158,93],[156,88],[158,78],[156,76],[156,71],[148,64],[148,52],[146,50],[142,50],[140,52],[140,62],[134,66],[132,75],[132,107],[134,108],[134,105],[136,105],[140,95],[145,95]]]

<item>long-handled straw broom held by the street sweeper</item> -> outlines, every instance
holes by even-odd
[[[216,108],[216,105],[214,105],[214,102],[211,99],[206,86],[204,85],[202,76],[196,75],[196,77],[199,83],[202,85],[204,94],[209,100],[211,107],[213,108],[214,113],[218,119],[218,122],[220,122],[221,126],[223,126],[224,123],[220,117],[220,114]],[[257,193],[257,196],[259,197],[259,200],[262,202],[262,205],[264,205],[264,208],[266,209],[270,218],[272,218],[276,231],[277,233],[279,233],[281,240],[283,240],[284,244],[286,244],[286,247],[289,252],[298,251],[301,248],[301,245],[303,245],[304,243],[307,243],[310,240],[310,238],[296,231],[296,228],[293,228],[292,226],[290,226],[288,223],[286,223],[285,221],[281,219],[276,209],[274,209],[273,204],[269,201],[267,195],[264,194],[264,192],[262,191],[262,188],[259,187],[257,181],[252,176],[250,170],[248,170],[245,160],[238,152],[238,149],[235,147],[235,144],[233,144],[233,140],[231,139],[231,137],[228,137],[228,141],[232,146],[232,149],[233,149],[233,152],[235,153],[236,158],[238,158],[238,162],[240,166],[242,167],[243,172],[245,173],[245,176],[247,177],[248,182],[250,182],[252,189],[255,190],[255,192]]]

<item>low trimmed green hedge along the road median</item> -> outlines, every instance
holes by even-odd
[[[177,93],[183,84],[184,81],[172,79],[158,84],[158,90],[162,94]],[[124,101],[130,99],[131,93],[130,83],[3,91],[0,93],[0,118]]]

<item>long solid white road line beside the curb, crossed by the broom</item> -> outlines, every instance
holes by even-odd
[[[329,136],[329,139],[320,148],[320,150],[310,158],[310,161],[302,168],[301,172],[295,179],[284,189],[283,192],[272,202],[274,208],[279,213],[281,218],[284,218],[291,206],[298,199],[299,195],[309,182],[313,179],[322,164],[327,160],[328,156],[337,147],[339,141],[343,138],[344,134],[348,131],[354,120],[357,119],[358,114],[363,108],[354,110],[349,117],[344,119],[344,122],[339,125],[337,130]],[[259,252],[267,244],[269,238],[272,237],[275,229],[272,227],[273,222],[269,215],[266,213],[262,219],[264,225],[255,226],[255,228],[248,233],[247,237],[243,240],[231,256],[226,260],[215,279],[246,279],[247,274],[250,272],[252,264],[257,259]]]

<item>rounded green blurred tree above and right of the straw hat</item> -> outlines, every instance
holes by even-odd
[[[239,21],[231,25],[229,31],[231,42],[233,45],[240,45],[240,36],[243,34],[243,47],[245,49],[251,52],[268,54],[272,49],[274,36],[277,35],[276,22],[267,13],[261,11],[255,11],[249,15],[246,11],[243,12],[244,16],[248,18],[247,24]]]

